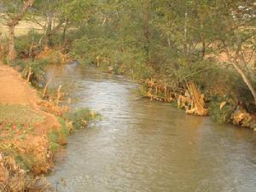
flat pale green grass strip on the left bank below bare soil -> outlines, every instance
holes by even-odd
[[[44,116],[28,106],[0,104],[0,124],[8,122],[18,125],[33,125],[43,121]]]

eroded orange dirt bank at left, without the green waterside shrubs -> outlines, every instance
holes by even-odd
[[[61,125],[15,69],[0,63],[0,191],[32,189],[31,177],[53,166],[49,133]],[[19,165],[17,164],[19,162]]]

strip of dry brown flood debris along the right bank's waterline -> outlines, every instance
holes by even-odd
[[[179,89],[157,80],[144,80],[140,93],[150,100],[175,103],[185,113],[199,116],[212,116],[219,124],[231,123],[256,131],[255,113],[249,113],[241,101],[225,95],[207,95],[201,92],[194,82]],[[214,90],[213,90],[214,91]]]

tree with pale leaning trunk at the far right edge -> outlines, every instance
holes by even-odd
[[[241,79],[251,91],[256,104],[256,90],[250,78],[250,63],[256,50],[256,4],[253,1],[234,2],[225,0],[217,3],[215,22],[216,41],[228,57],[230,64],[240,74]],[[254,11],[253,11],[254,10]],[[218,27],[221,27],[219,30]],[[217,31],[218,30],[218,31]]]

